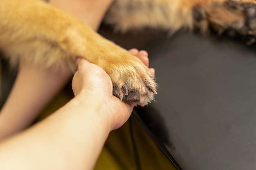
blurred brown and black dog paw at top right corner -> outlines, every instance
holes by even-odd
[[[239,36],[247,44],[256,41],[256,1],[218,0],[193,8],[194,26],[202,33],[213,28],[219,35]]]

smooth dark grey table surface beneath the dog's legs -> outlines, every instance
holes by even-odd
[[[160,88],[136,110],[182,169],[256,169],[255,46],[183,31],[100,33],[148,51]]]

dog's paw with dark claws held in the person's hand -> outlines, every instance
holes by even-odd
[[[114,96],[126,103],[141,106],[154,100],[157,84],[148,68],[137,57],[127,52],[118,61],[111,63],[108,61],[103,69],[112,80]]]

